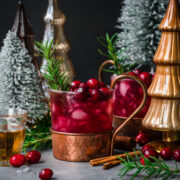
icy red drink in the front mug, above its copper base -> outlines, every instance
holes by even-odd
[[[77,92],[51,91],[52,129],[65,133],[111,131],[111,95],[96,100],[79,97]]]

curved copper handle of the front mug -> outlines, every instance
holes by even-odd
[[[113,154],[113,148],[114,148],[114,141],[115,138],[117,136],[117,134],[119,133],[119,131],[121,131],[121,129],[127,125],[127,123],[139,112],[141,111],[141,109],[144,107],[144,105],[146,104],[147,101],[147,88],[145,86],[145,84],[136,76],[133,75],[119,75],[116,78],[113,79],[113,81],[111,82],[111,88],[113,89],[115,84],[122,79],[133,79],[135,80],[143,89],[143,99],[141,104],[139,105],[139,107],[115,130],[113,136],[112,136],[112,141],[111,141],[111,155]]]

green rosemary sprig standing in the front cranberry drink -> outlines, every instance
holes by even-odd
[[[60,66],[62,59],[56,59],[53,56],[56,46],[57,45],[53,47],[53,40],[50,42],[47,41],[45,44],[42,42],[35,43],[37,55],[42,56],[47,61],[47,65],[42,67],[42,69],[45,71],[45,73],[42,73],[42,75],[47,80],[49,87],[55,90],[68,91],[69,79],[71,75],[67,75],[67,72],[61,72]]]

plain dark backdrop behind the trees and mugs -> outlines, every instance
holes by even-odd
[[[0,45],[12,28],[17,10],[17,0],[1,0]],[[48,0],[23,0],[26,13],[35,33],[35,39],[43,38],[44,21]],[[101,45],[98,36],[106,32],[114,34],[120,16],[121,0],[59,0],[67,17],[65,31],[71,43],[70,58],[76,70],[76,79],[85,81],[97,77],[100,64],[105,60],[98,54]]]

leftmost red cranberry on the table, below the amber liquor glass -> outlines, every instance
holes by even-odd
[[[22,154],[16,154],[16,155],[13,155],[11,158],[10,158],[10,164],[14,167],[20,167],[22,165],[25,164],[26,162],[26,157]]]

